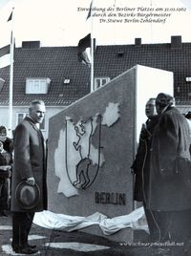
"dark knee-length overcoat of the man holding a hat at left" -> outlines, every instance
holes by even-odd
[[[44,139],[30,117],[26,117],[17,125],[14,132],[13,149],[14,160],[11,181],[11,211],[36,212],[47,209]],[[20,181],[26,181],[31,177],[34,178],[40,188],[40,199],[34,208],[26,210],[17,202],[15,198],[15,189]]]

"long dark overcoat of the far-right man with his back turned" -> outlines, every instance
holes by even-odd
[[[153,134],[147,208],[191,209],[191,161],[188,123],[175,107],[159,118]]]

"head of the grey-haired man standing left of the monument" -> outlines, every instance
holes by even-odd
[[[35,104],[32,105],[32,108],[30,110],[30,117],[32,117],[32,120],[35,123],[42,123],[44,117],[45,117],[45,106],[43,104]]]

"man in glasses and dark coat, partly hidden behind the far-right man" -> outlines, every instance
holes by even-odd
[[[146,103],[145,114],[148,119],[146,120],[146,123],[142,125],[139,136],[138,153],[136,155],[136,160],[134,160],[134,163],[131,166],[133,173],[135,174],[134,200],[143,203],[151,240],[155,240],[157,226],[153,220],[150,210],[146,209],[146,202],[148,199],[152,135],[158,123],[155,101],[155,98],[150,98]]]

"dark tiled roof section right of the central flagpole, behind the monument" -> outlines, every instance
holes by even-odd
[[[123,53],[117,56],[117,53]],[[174,96],[178,104],[189,103],[191,82],[191,43],[182,43],[181,49],[171,49],[170,44],[104,46],[96,50],[96,75],[115,76],[135,65],[144,65],[174,73]]]

